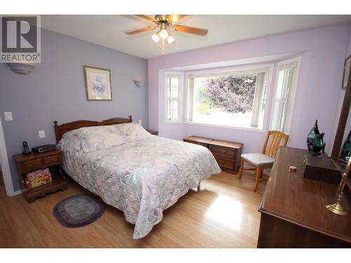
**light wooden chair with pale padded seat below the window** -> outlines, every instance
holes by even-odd
[[[243,170],[256,170],[256,183],[255,187],[253,187],[253,191],[257,191],[258,183],[260,181],[267,180],[262,179],[263,170],[272,168],[275,155],[277,154],[277,150],[282,140],[282,146],[286,146],[289,140],[289,135],[279,130],[270,130],[265,139],[262,154],[241,154],[239,179],[241,179]],[[254,168],[244,168],[244,162],[249,163],[249,165]]]

